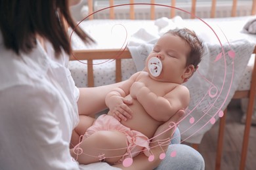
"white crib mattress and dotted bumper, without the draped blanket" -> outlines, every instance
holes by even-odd
[[[248,35],[248,34],[242,34],[242,35],[237,35],[236,37],[234,36],[234,33],[237,31],[242,30],[243,25],[247,22],[247,20],[250,20],[253,18],[253,16],[247,16],[247,17],[236,17],[236,18],[213,18],[213,19],[205,19],[205,22],[210,23],[210,24],[218,24],[221,25],[221,28],[224,30],[223,32],[225,33],[226,37],[229,39],[229,41],[234,41],[234,39],[240,39],[240,38],[245,38],[249,39],[249,41],[255,42],[255,35]],[[173,21],[171,21],[173,22]],[[200,26],[201,22],[199,20],[175,20],[174,23],[177,25],[182,25],[186,24],[188,27],[194,27],[194,29],[201,29]],[[198,24],[200,23],[200,24]],[[154,25],[154,21],[152,20],[87,20],[85,22],[81,23],[81,27],[85,29],[90,35],[98,42],[98,44],[94,46],[86,46],[83,44],[83,42],[77,38],[77,35],[72,34],[72,47],[74,49],[88,49],[88,48],[121,48],[121,44],[123,44],[123,40],[125,39],[123,36],[125,31],[121,25],[124,25],[126,27],[126,30],[128,32],[127,37],[131,37],[131,35],[135,35],[137,31],[140,29],[142,30],[143,28],[145,30],[150,30],[151,35],[158,35],[159,30],[156,25]],[[102,25],[98,27],[98,25]],[[232,27],[235,25],[235,27]],[[104,28],[104,31],[102,31],[102,27]],[[111,30],[113,27],[116,27],[119,31],[117,33],[111,33]],[[203,25],[205,27],[205,25]],[[217,25],[215,25],[217,27]],[[232,29],[230,29],[232,28]],[[208,29],[208,28],[207,28]],[[115,29],[114,29],[115,30]],[[164,31],[163,29],[162,31]],[[203,29],[202,29],[203,30]],[[220,31],[219,29],[217,29]],[[228,31],[227,31],[228,30]],[[200,31],[199,31],[200,32]],[[118,37],[118,35],[122,35],[120,39],[116,39],[113,37]],[[205,31],[201,33],[201,36],[204,37],[205,39],[208,39],[208,41],[216,41],[216,39],[210,40],[209,35],[205,34]],[[239,37],[240,36],[240,37]],[[242,37],[241,37],[242,36]],[[102,39],[102,37],[106,37]],[[112,37],[112,38],[111,38]],[[152,39],[154,39],[152,37]],[[221,37],[221,36],[220,36]],[[142,41],[141,39],[135,39],[136,37],[130,38],[130,44],[135,44],[135,42],[139,42],[138,44],[141,44]],[[109,41],[111,39],[111,41]],[[222,36],[223,39],[223,36]],[[121,41],[121,42],[120,42]],[[111,42],[111,43],[110,43]],[[79,61],[70,61],[69,63],[69,68],[70,71],[72,72],[72,76],[75,80],[75,84],[78,87],[87,87],[87,65],[86,61],[83,61],[85,63],[81,63]],[[115,77],[115,63],[108,61],[106,63],[103,63],[104,61],[95,61],[96,63],[102,63],[100,65],[95,65],[95,86],[101,86],[104,84],[112,84],[115,82],[116,77]],[[123,67],[122,67],[122,79],[125,80],[129,78],[129,76],[133,75],[137,71],[135,67],[135,63],[132,59],[125,59],[122,61]],[[252,67],[251,65],[253,64],[253,58],[251,59],[250,63],[248,64],[248,67],[245,69],[245,75],[243,76],[240,85],[238,86],[238,90],[249,90],[250,86],[250,81],[251,81],[251,71]]]

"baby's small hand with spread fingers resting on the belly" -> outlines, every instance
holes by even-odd
[[[131,119],[132,110],[127,106],[131,104],[131,99],[125,99],[119,96],[111,97],[111,102],[108,106],[110,109],[109,114],[118,121],[126,121],[127,118]]]

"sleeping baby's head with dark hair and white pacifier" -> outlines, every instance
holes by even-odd
[[[146,71],[162,82],[181,84],[198,68],[203,44],[190,29],[173,29],[160,37],[146,60]]]

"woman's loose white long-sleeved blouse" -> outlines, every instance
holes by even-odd
[[[54,59],[49,43],[47,53],[37,41],[30,54],[17,56],[0,32],[1,169],[79,169],[69,151],[79,91],[68,56]]]

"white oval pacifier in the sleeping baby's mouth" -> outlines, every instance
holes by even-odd
[[[161,73],[162,65],[159,58],[150,58],[148,61],[148,71],[152,76],[159,76]]]

